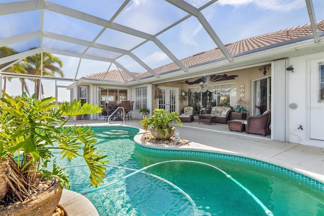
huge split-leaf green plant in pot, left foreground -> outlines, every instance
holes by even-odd
[[[90,184],[97,187],[103,182],[106,156],[96,149],[91,128],[64,127],[72,116],[101,113],[101,108],[89,103],[81,105],[76,100],[56,105],[55,97],[37,100],[34,95],[28,97],[24,93],[15,99],[3,94],[0,101],[0,215],[52,215],[62,188],[69,188],[69,175],[56,165],[54,151],[60,151],[61,159],[69,161],[83,158],[90,170]],[[62,118],[63,115],[68,118]],[[45,202],[48,209],[34,204],[48,193],[53,196]]]

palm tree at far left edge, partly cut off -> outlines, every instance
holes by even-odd
[[[0,58],[2,57],[6,57],[6,56],[10,56],[10,55],[14,55],[18,53],[17,51],[15,51],[12,48],[9,47],[0,47]],[[1,64],[0,65],[0,69],[4,68],[5,66],[7,66],[8,64],[10,64],[11,62],[5,63],[5,64]],[[25,70],[25,68],[21,65],[21,63],[16,63],[14,65],[11,65],[10,67],[6,68],[4,70],[5,72],[9,72],[9,73],[15,73],[15,74],[27,74],[27,71]],[[6,87],[7,87],[7,80],[11,82],[12,77],[4,77],[4,92],[6,92]],[[21,82],[21,91],[23,92],[27,92],[27,94],[29,95],[29,89],[28,89],[28,85],[25,82],[25,79],[20,78],[20,82]]]

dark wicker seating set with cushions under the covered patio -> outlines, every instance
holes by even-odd
[[[185,106],[181,110],[180,120],[182,122],[192,122],[193,107]],[[270,134],[270,117],[271,112],[265,111],[262,115],[250,116],[241,115],[241,119],[231,117],[233,113],[232,106],[213,106],[212,109],[206,110],[204,115],[198,115],[198,123],[211,125],[212,123],[227,124],[230,131],[246,131],[246,133],[255,133],[266,136]],[[232,118],[232,119],[231,119]]]

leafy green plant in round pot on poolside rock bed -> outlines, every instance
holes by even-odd
[[[142,128],[147,131],[148,126],[151,126],[151,134],[157,139],[168,139],[173,136],[175,127],[171,124],[176,123],[182,126],[178,112],[169,113],[165,109],[154,109],[153,115],[150,118],[145,117],[139,124],[142,124]]]

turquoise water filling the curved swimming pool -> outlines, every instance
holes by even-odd
[[[98,139],[98,148],[109,159],[103,185],[161,161],[198,161],[216,166],[230,174],[274,215],[324,215],[323,192],[275,171],[236,161],[190,156],[189,153],[152,153],[138,147],[133,141],[138,129],[92,129]],[[61,165],[80,165],[80,162],[64,161]],[[67,169],[72,179],[71,190],[87,193],[94,189],[89,185],[89,172],[86,167]],[[100,215],[266,215],[247,192],[210,166],[191,162],[169,162],[145,171],[166,181],[149,174],[137,173],[85,196],[95,205]]]

